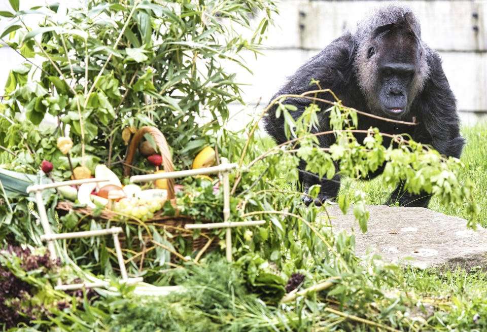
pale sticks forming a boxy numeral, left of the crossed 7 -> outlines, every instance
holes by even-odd
[[[41,235],[41,240],[47,241],[47,247],[49,249],[49,253],[52,260],[57,259],[56,248],[54,247],[55,240],[74,239],[74,238],[91,237],[91,236],[104,236],[104,235],[112,234],[113,243],[115,245],[115,251],[117,253],[118,264],[120,265],[120,274],[122,275],[122,282],[135,284],[143,281],[143,278],[128,278],[127,276],[127,270],[125,269],[125,263],[123,261],[123,256],[122,256],[122,248],[120,247],[120,241],[118,240],[118,234],[123,232],[121,227],[112,227],[110,229],[105,229],[105,230],[53,234],[51,232],[51,225],[49,224],[49,219],[47,218],[46,207],[44,206],[44,202],[42,200],[42,191],[45,189],[57,188],[62,186],[75,186],[75,185],[82,185],[83,183],[102,182],[108,180],[109,179],[107,178],[89,178],[89,179],[81,179],[81,180],[46,183],[45,185],[33,185],[27,187],[27,193],[33,192],[36,197],[36,204],[39,212],[39,218],[41,219],[42,228],[44,230],[44,234]],[[110,283],[106,281],[61,285],[60,281],[61,279],[58,279],[58,285],[55,287],[56,289],[66,290],[66,289],[78,289],[83,287],[85,288],[108,287],[110,285]]]

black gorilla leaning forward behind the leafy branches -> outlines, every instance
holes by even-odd
[[[316,90],[309,85],[311,79],[320,82],[322,88],[331,89],[343,105],[370,114],[412,122],[419,125],[398,125],[359,115],[359,128],[378,127],[381,132],[409,134],[415,141],[432,145],[440,154],[460,158],[464,139],[459,134],[459,118],[456,100],[441,67],[439,55],[421,40],[420,23],[409,8],[389,5],[377,10],[358,24],[357,31],[345,32],[323,51],[302,65],[288,82],[272,97],[282,94],[301,94]],[[329,93],[319,98],[333,100]],[[287,98],[286,104],[297,106],[290,112],[297,119],[311,101],[303,98]],[[329,107],[319,104],[322,109]],[[264,118],[266,131],[277,143],[288,140],[284,134],[284,120],[275,118],[276,105]],[[328,113],[319,116],[318,131],[329,130]],[[333,135],[318,136],[322,147],[330,146]],[[359,141],[365,136],[357,135]],[[390,140],[384,139],[385,144]],[[314,174],[304,172],[305,161],[300,169],[300,182],[307,193],[311,185],[321,182],[321,192],[316,204],[336,197],[340,187],[339,176],[320,181]],[[379,175],[384,167],[369,174]],[[389,202],[398,201],[401,206],[427,207],[430,196],[404,192],[399,185]],[[303,196],[308,205],[311,199]]]

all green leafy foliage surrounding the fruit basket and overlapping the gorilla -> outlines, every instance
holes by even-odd
[[[76,299],[80,294],[75,294],[73,305],[62,310],[49,307],[49,313],[29,321],[30,326],[86,331],[441,330],[441,324],[459,317],[457,309],[483,312],[484,301],[476,298],[472,307],[466,307],[457,298],[452,301],[454,310],[441,307],[444,311],[434,318],[418,318],[413,310],[424,309],[423,298],[411,296],[411,289],[420,282],[411,282],[398,267],[380,262],[376,256],[357,257],[354,236],[331,231],[326,204],[306,208],[295,189],[300,159],[307,161],[306,171],[327,178],[335,172],[363,178],[387,162],[386,183],[404,181],[410,192],[435,194],[442,204],[465,204],[469,225],[474,226],[478,206],[472,198],[473,183],[468,176],[460,176],[463,164],[459,160],[445,159],[407,137],[379,133],[376,128],[359,133],[356,110],[338,101],[329,101],[331,107],[324,110],[312,103],[295,119],[292,106],[281,98],[274,100],[290,139],[279,146],[269,146],[268,140],[258,136],[260,119],[236,133],[222,126],[228,118],[227,103],[241,98],[234,75],[226,73],[219,60],[240,63],[236,55],[241,50],[255,51],[269,15],[275,11],[272,2],[90,0],[87,8],[69,11],[64,20],[56,19],[58,5],[19,12],[18,2],[12,0],[11,4],[15,13],[0,13],[12,18],[3,36],[9,35],[10,45],[28,60],[10,73],[9,95],[2,106],[0,144],[16,154],[11,168],[29,173],[29,181],[42,183],[50,179],[38,172],[38,166],[48,159],[55,167],[53,175],[66,179],[71,156],[73,166],[85,164],[93,169],[101,162],[120,175],[126,144],[123,130],[156,125],[173,149],[177,168],[188,168],[195,152],[207,144],[215,145],[220,157],[237,163],[236,173],[230,175],[231,220],[265,220],[258,228],[232,230],[231,253],[236,261],[232,264],[223,259],[224,241],[217,242],[213,253],[201,257],[202,251],[192,252],[182,236],[160,225],[126,215],[100,218],[101,207],[90,214],[58,214],[55,207],[60,197],[54,190],[45,191],[54,232],[122,226],[129,275],[143,276],[152,285],[114,282],[108,290],[97,290],[100,297],[94,301],[81,294],[82,305]],[[249,28],[249,17],[258,10],[264,12],[264,18],[249,38],[233,30],[235,24]],[[40,27],[29,30],[26,18],[40,12]],[[42,59],[41,65],[29,62],[36,59]],[[22,108],[28,121],[16,120]],[[329,113],[333,130],[318,133],[318,119],[325,113]],[[48,114],[56,125],[38,127]],[[199,125],[205,114],[211,115],[211,122]],[[64,156],[55,142],[66,135],[67,127],[75,145]],[[363,138],[358,140],[357,134]],[[322,149],[319,135],[334,135],[336,142]],[[382,145],[385,139],[392,139],[393,144]],[[11,159],[5,153],[3,160]],[[142,171],[149,168],[142,158],[135,166]],[[196,223],[222,220],[219,178],[187,178],[181,183],[185,187],[177,196],[177,207],[168,201],[164,205],[166,216],[181,213]],[[308,194],[316,197],[319,190],[319,186],[312,187]],[[0,192],[10,199],[7,190]],[[10,215],[0,228],[4,246],[41,245],[43,231],[29,199],[16,196],[2,206]],[[343,212],[352,203],[365,231],[365,193],[356,191],[338,199]],[[213,231],[211,236],[222,238],[223,231]],[[61,279],[73,282],[71,268],[82,277],[118,276],[111,241],[109,237],[59,241],[58,254],[73,260],[59,272]],[[36,288],[37,294],[48,292],[45,296],[50,304],[72,297],[53,290],[54,275],[44,270],[27,272],[15,255],[0,255],[0,259],[10,279],[27,282],[30,286],[22,284],[24,288]],[[288,288],[288,284],[294,285]],[[166,289],[160,287],[173,285],[179,286],[177,291],[165,296],[138,295],[141,290],[153,295]],[[284,298],[287,288],[290,292]],[[463,318],[459,320],[459,328],[469,326]]]

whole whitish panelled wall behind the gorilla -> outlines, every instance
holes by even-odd
[[[443,68],[458,100],[464,123],[473,124],[487,113],[487,2],[404,1],[422,24],[422,39],[439,51]],[[237,75],[245,84],[249,112],[256,100],[261,107],[306,59],[318,53],[381,1],[307,1],[282,0],[278,27],[271,29],[263,56],[248,59],[254,76]],[[258,20],[256,20],[258,22]],[[239,109],[241,106],[233,106]],[[244,121],[245,118],[239,118]]]

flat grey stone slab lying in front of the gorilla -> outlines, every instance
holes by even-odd
[[[368,205],[368,231],[360,231],[353,207],[343,215],[338,205],[327,208],[332,230],[343,230],[356,238],[356,253],[376,252],[385,261],[422,269],[457,266],[487,271],[487,229],[467,229],[467,220],[420,207]],[[324,215],[321,214],[321,215]],[[406,257],[412,260],[405,260]]]

